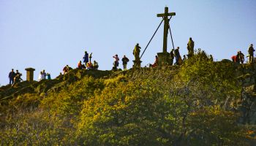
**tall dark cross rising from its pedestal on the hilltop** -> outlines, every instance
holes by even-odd
[[[157,17],[164,18],[165,20],[165,26],[164,26],[164,40],[163,40],[163,53],[167,53],[167,36],[168,36],[168,28],[169,28],[169,20],[168,16],[175,16],[175,12],[168,12],[168,7],[165,7],[165,13],[163,14],[157,14]]]

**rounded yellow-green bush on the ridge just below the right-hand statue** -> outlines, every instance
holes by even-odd
[[[197,50],[194,57],[182,64],[178,78],[184,82],[198,82],[219,93],[215,98],[225,99],[227,95],[239,96],[241,85],[236,79],[236,68],[230,61],[213,62],[208,55]]]

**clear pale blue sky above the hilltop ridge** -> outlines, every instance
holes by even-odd
[[[140,43],[143,51],[165,6],[176,12],[170,26],[182,55],[189,37],[215,61],[256,46],[255,0],[0,0],[0,85],[9,82],[12,68],[23,80],[27,67],[36,69],[34,80],[42,69],[56,77],[66,64],[75,68],[85,50],[101,70],[112,68],[115,54],[127,55],[130,68],[133,48]],[[163,25],[143,55],[143,66],[162,52],[162,34]]]

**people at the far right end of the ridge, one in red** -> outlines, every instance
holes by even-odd
[[[253,45],[249,45],[249,49],[248,49],[248,55],[246,57],[249,57],[248,63],[252,64],[254,62],[254,52],[255,49],[253,48]],[[237,64],[244,64],[244,54],[241,53],[241,50],[238,51],[238,53],[236,55],[233,55],[231,57],[232,61],[237,63]]]

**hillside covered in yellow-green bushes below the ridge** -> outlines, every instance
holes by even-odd
[[[1,145],[249,145],[239,66],[199,51],[181,66],[75,69],[0,89]],[[243,79],[245,80],[245,79]]]

